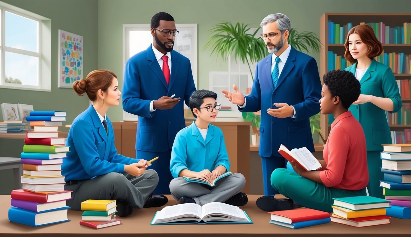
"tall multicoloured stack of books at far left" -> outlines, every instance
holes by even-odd
[[[27,119],[32,117],[33,120],[28,121],[36,121],[33,117],[37,116],[32,116],[33,112],[27,116]],[[65,120],[65,114],[63,118]],[[61,164],[69,147],[65,146],[64,138],[58,138],[57,128],[62,124],[48,126],[45,120],[42,118],[35,125],[37,130],[27,132],[21,153],[23,189],[12,191],[13,207],[9,209],[10,221],[31,226],[69,221],[66,200],[71,199],[72,191],[64,190],[65,177],[61,175]]]

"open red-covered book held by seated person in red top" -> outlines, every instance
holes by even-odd
[[[286,160],[290,163],[291,161],[295,161],[304,170],[318,170],[321,168],[321,164],[305,146],[298,149],[294,148],[290,151],[283,144],[281,144],[278,149],[278,153],[284,156],[284,158],[286,158]]]

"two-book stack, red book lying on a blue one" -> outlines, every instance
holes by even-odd
[[[309,208],[292,209],[286,211],[271,211],[270,223],[291,229],[298,229],[312,225],[330,222],[330,214]]]

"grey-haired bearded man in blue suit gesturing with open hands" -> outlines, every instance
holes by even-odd
[[[309,117],[320,110],[321,81],[314,58],[297,51],[288,44],[291,23],[281,13],[270,14],[261,22],[270,55],[256,65],[251,94],[222,91],[226,98],[238,105],[240,112],[261,109],[260,149],[263,169],[264,196],[257,199],[260,209],[273,206],[293,206],[289,201],[279,201],[278,192],[271,186],[273,170],[285,168],[286,160],[278,153],[280,144],[288,149],[306,146],[314,152]]]

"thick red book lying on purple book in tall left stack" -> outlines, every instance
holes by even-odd
[[[12,196],[12,199],[17,199],[17,200],[47,203],[47,202],[56,202],[56,201],[71,199],[72,192],[73,191],[65,190],[61,192],[41,192],[41,193],[37,192],[35,193],[35,192],[25,191],[23,189],[16,189],[12,191],[11,196]]]

